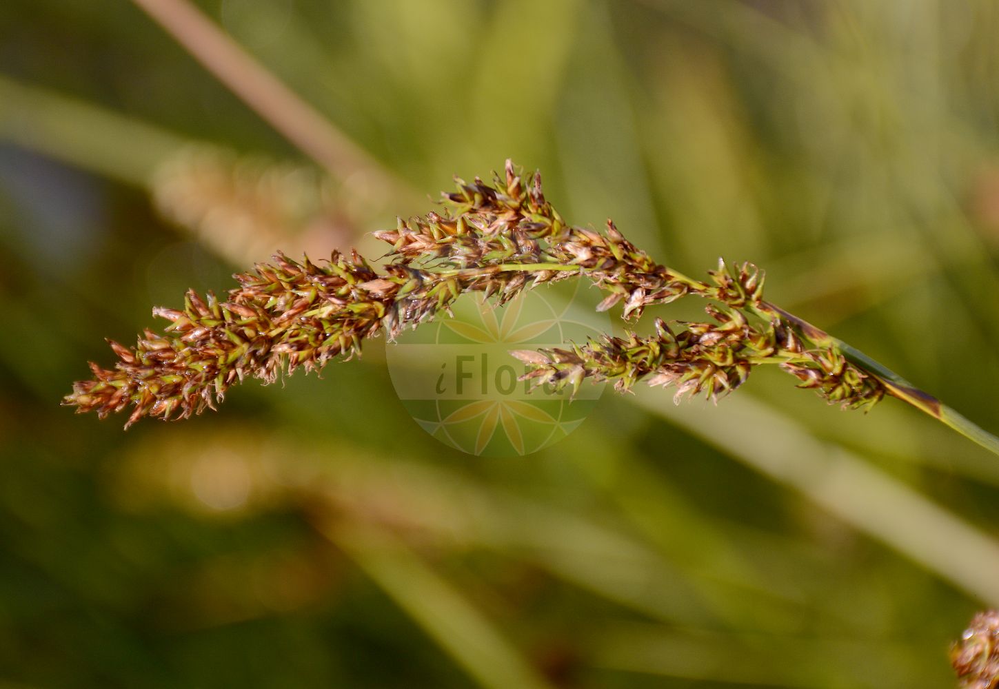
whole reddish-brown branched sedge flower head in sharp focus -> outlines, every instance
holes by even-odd
[[[514,352],[526,378],[555,387],[584,378],[618,389],[636,381],[673,385],[679,398],[716,399],[745,381],[753,366],[776,363],[830,402],[876,403],[887,388],[848,361],[825,334],[762,299],[763,276],[750,264],[720,262],[707,282],[653,261],[607,222],[603,232],[567,224],[541,191],[507,161],[494,184],[458,180],[440,213],[400,220],[375,236],[391,245],[390,261],[373,267],[357,253],[301,262],[278,255],[235,276],[224,300],[189,292],[183,310],[157,308],[170,324],[145,331],[134,347],[111,342],[112,368],[91,363],[64,403],[78,411],[132,411],[188,417],[214,408],[246,377],[272,382],[298,367],[320,369],[359,353],[364,340],[450,313],[461,295],[480,293],[501,305],[537,285],[585,278],[607,293],[600,310],[621,304],[625,319],[646,307],[695,296],[709,301],[705,323],[656,321],[651,337],[628,333],[584,345]]]

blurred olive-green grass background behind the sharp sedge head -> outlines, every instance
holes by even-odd
[[[0,685],[953,684],[999,603],[999,461],[894,400],[759,371],[473,457],[377,341],[183,423],[58,401],[154,304],[278,248],[377,256],[366,232],[512,157],[688,275],[759,264],[997,430],[999,7],[200,6],[371,158],[322,171],[131,3],[0,4]]]

